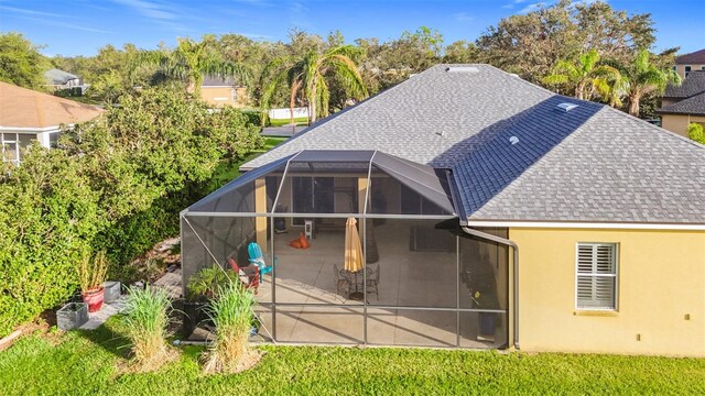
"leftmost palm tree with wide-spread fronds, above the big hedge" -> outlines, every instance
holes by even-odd
[[[186,90],[196,95],[200,92],[204,75],[235,77],[240,82],[247,82],[248,68],[240,63],[226,61],[206,38],[202,42],[178,38],[174,50],[141,51],[131,69],[134,72],[142,66],[159,67],[165,76],[185,81]]]

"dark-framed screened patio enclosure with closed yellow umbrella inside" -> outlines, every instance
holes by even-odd
[[[456,195],[449,170],[378,151],[290,155],[181,213],[184,295],[217,265],[246,274],[265,341],[507,346],[507,248],[460,230]]]

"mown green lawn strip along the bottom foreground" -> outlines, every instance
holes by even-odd
[[[705,394],[705,360],[454,350],[261,346],[252,370],[204,375],[203,348],[123,373],[118,318],[95,331],[30,336],[0,352],[3,395]]]

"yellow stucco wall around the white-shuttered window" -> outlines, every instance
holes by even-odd
[[[509,238],[520,252],[522,350],[705,356],[705,231],[510,229]],[[576,310],[577,242],[619,244],[617,311]]]

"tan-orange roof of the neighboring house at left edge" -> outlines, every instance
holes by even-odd
[[[102,110],[53,95],[0,82],[0,127],[43,129],[91,120]]]

